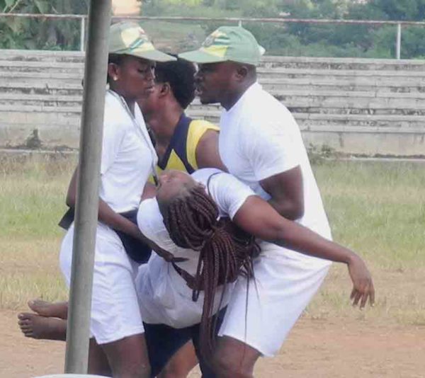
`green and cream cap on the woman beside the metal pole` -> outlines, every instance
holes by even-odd
[[[145,30],[138,23],[120,22],[111,25],[109,30],[109,54],[134,55],[155,62],[176,60],[155,49]]]

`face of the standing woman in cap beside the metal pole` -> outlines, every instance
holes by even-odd
[[[120,64],[109,64],[111,88],[126,99],[136,100],[154,91],[155,62],[125,55]]]

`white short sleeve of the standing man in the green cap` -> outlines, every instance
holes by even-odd
[[[251,127],[242,145],[245,156],[258,181],[288,171],[300,165],[300,146],[295,134],[297,123],[289,113],[281,113],[283,120],[264,120]]]

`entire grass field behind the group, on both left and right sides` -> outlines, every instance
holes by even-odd
[[[28,299],[66,299],[58,268],[57,221],[74,158],[0,159],[0,309]],[[325,162],[314,172],[334,239],[361,253],[378,302],[353,311],[344,266],[331,269],[305,316],[425,325],[425,169],[423,164]]]

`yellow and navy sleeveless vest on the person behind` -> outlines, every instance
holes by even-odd
[[[219,131],[220,129],[211,122],[192,120],[183,113],[164,156],[158,161],[158,172],[166,169],[176,169],[187,173],[196,171],[198,169],[196,147],[200,138],[208,130]]]

